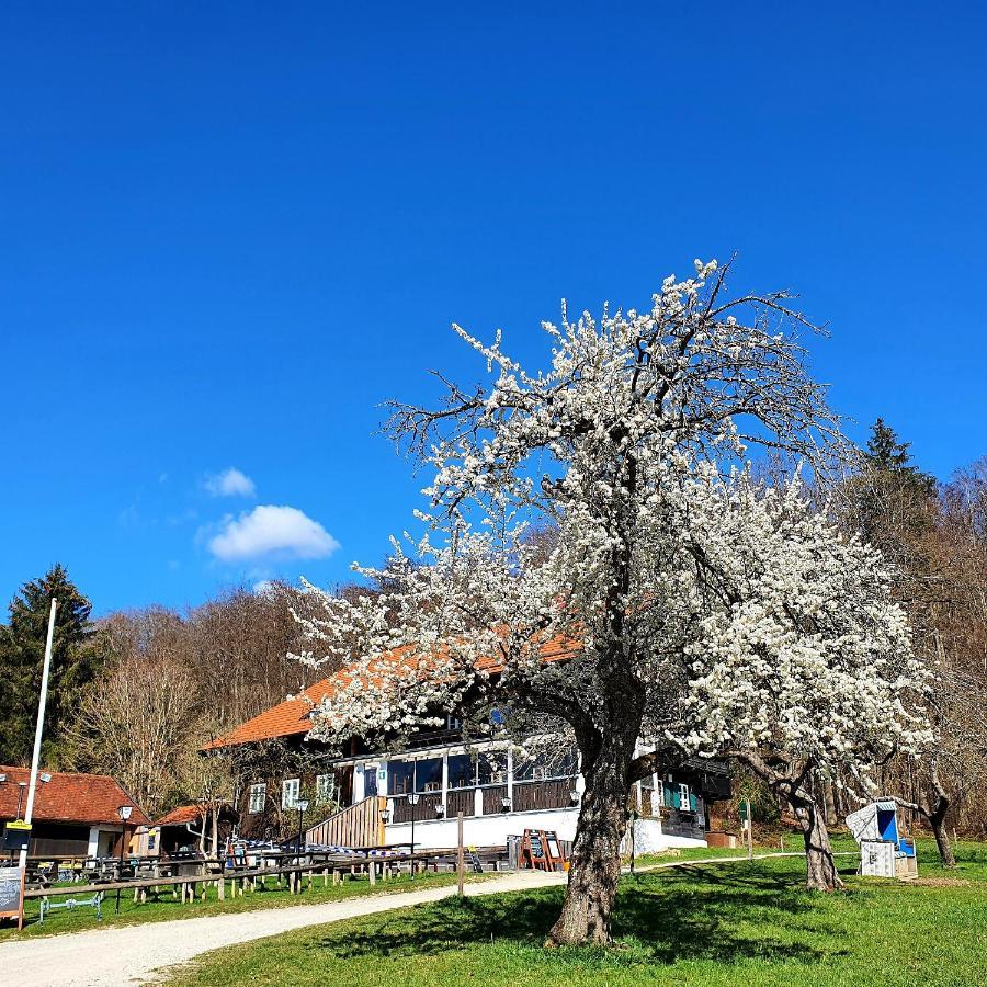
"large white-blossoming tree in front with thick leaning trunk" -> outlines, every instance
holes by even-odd
[[[321,613],[304,622],[303,660],[360,656],[349,685],[314,710],[314,736],[394,742],[442,710],[481,717],[497,708],[575,740],[585,792],[553,943],[609,941],[636,780],[690,750],[742,746],[753,758],[785,739],[761,736],[739,699],[734,708],[750,725],[733,731],[721,681],[756,704],[770,691],[759,661],[782,656],[790,663],[779,671],[787,669],[787,694],[797,697],[789,678],[820,685],[843,654],[829,638],[814,650],[808,617],[790,633],[797,661],[773,639],[763,651],[759,601],[781,621],[799,569],[779,559],[763,590],[740,579],[750,558],[770,568],[759,540],[774,537],[774,501],[744,492],[742,475],[717,479],[752,445],[821,465],[839,442],[798,343],[812,327],[784,293],[729,298],[726,269],[695,268],[694,277],[667,279],[645,311],[570,321],[564,309],[560,326],[544,326],[553,350],[541,373],[511,360],[499,334],[485,344],[455,327],[490,384],[446,382],[441,407],[398,405],[392,419],[396,438],[433,470],[419,514],[427,534],[410,551],[395,542],[385,570],[360,570],[382,593],[324,593]],[[546,544],[526,537],[532,521],[552,527]],[[835,537],[820,525],[806,519],[772,544],[803,551],[815,532],[804,549],[813,555]],[[826,554],[819,600],[829,612],[833,594],[853,585],[854,602],[870,608],[876,629],[854,656],[904,646],[880,583],[854,583],[856,563]],[[731,648],[731,634],[742,647]],[[871,678],[862,668],[852,681],[894,692],[880,661],[867,668]],[[803,724],[801,736],[816,726]]]

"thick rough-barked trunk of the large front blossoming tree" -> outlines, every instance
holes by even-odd
[[[621,876],[621,840],[627,829],[629,769],[637,730],[635,717],[628,716],[603,739],[592,765],[583,763],[586,790],[569,859],[569,884],[546,945],[611,942],[610,917]]]

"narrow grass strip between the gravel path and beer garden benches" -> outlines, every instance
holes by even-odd
[[[483,880],[478,875],[467,875],[469,880]],[[366,877],[347,880],[338,887],[333,887],[330,881],[328,887],[322,886],[321,876],[315,877],[313,887],[305,889],[299,895],[288,894],[286,886],[275,888],[273,878],[268,878],[265,890],[248,890],[242,897],[234,898],[227,885],[227,898],[218,899],[218,890],[215,885],[207,888],[206,899],[196,898],[195,901],[182,905],[178,898],[172,897],[171,889],[162,888],[162,894],[157,901],[148,898],[144,905],[135,904],[133,892],[124,890],[120,898],[120,915],[115,914],[116,892],[107,892],[103,901],[103,921],[97,922],[95,911],[92,908],[68,909],[60,908],[46,916],[44,922],[38,921],[38,900],[29,899],[25,924],[22,932],[18,932],[16,926],[4,923],[0,926],[0,941],[23,937],[53,935],[60,932],[79,932],[83,929],[94,929],[105,926],[133,926],[141,922],[164,922],[170,919],[197,918],[204,915],[228,915],[230,912],[257,911],[261,908],[290,908],[292,905],[318,905],[324,901],[340,901],[360,895],[368,894],[396,894],[398,892],[417,890],[426,887],[441,887],[455,884],[455,874],[422,874],[413,880],[408,876],[392,877],[387,882],[378,878],[376,885],[371,886]],[[66,886],[66,889],[70,885]],[[56,901],[66,900],[65,897],[55,898]]]

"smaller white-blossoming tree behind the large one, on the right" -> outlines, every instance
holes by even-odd
[[[878,552],[785,489],[710,477],[690,496],[688,551],[703,594],[685,646],[683,746],[745,763],[787,802],[808,887],[842,886],[816,789],[932,744],[931,678]],[[708,522],[713,520],[711,525]]]

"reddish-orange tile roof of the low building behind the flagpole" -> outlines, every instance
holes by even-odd
[[[45,822],[109,822],[120,825],[117,809],[132,805],[128,826],[146,826],[150,819],[131,795],[107,774],[66,774],[49,772],[52,780],[41,780],[38,771],[37,790],[34,796],[33,818]],[[19,782],[31,782],[29,768],[4,768],[0,774],[7,780],[0,782],[0,819],[15,819],[18,815]],[[21,815],[27,804],[27,789],[21,799]]]

